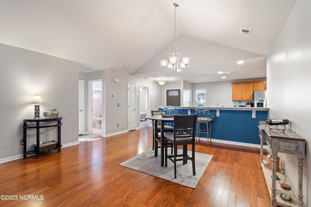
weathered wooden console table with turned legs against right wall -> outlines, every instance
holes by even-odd
[[[259,126],[259,137],[260,137],[260,164],[266,180],[268,190],[271,197],[271,206],[276,205],[283,207],[298,206],[303,207],[303,193],[302,193],[302,169],[303,159],[305,157],[305,140],[296,135],[290,130],[282,130],[282,126],[269,129],[264,124]],[[267,143],[272,153],[272,171],[264,167],[263,160],[263,142]],[[276,196],[276,175],[283,178],[281,173],[276,173],[276,155],[277,153],[295,154],[298,157],[298,192],[297,198],[293,196],[292,202],[283,201],[279,196]],[[271,183],[271,188],[269,188]],[[293,193],[294,194],[294,193]]]

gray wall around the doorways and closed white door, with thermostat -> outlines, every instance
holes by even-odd
[[[114,78],[119,82],[114,82]],[[151,80],[141,79],[128,74],[112,71],[100,70],[90,73],[79,73],[79,79],[85,80],[85,131],[88,130],[88,80],[103,79],[103,128],[104,136],[111,136],[128,130],[127,116],[127,84],[136,85],[136,128],[139,128],[139,86],[149,87],[150,109],[155,110],[155,106],[161,105],[161,86]],[[114,94],[114,97],[111,97]],[[117,107],[117,103],[121,107]],[[119,127],[117,127],[119,124]]]

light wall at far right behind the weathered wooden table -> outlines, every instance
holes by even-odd
[[[298,0],[267,58],[267,105],[270,117],[288,118],[289,127],[306,139],[303,193],[311,201],[311,1]],[[297,156],[281,154],[281,165],[297,191]]]

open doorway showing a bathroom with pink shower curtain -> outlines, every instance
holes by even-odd
[[[89,80],[90,133],[103,134],[103,80]]]

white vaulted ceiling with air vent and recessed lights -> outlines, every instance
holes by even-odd
[[[263,78],[266,56],[296,1],[0,0],[0,43],[81,63],[86,72],[192,83]],[[159,64],[174,49],[173,2],[178,51],[190,57],[181,74]]]

